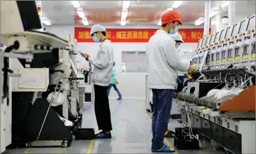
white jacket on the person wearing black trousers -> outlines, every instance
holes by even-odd
[[[110,40],[102,42],[96,57],[89,57],[89,63],[94,65],[92,81],[95,85],[109,86],[114,63],[113,48],[110,42]]]

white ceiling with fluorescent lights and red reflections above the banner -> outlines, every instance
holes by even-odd
[[[126,25],[155,26],[161,15],[171,8],[173,2],[131,1]],[[122,1],[80,1],[80,4],[88,18],[89,25],[120,25]],[[42,1],[41,10],[43,17],[47,17],[52,25],[83,25],[70,1]],[[204,17],[204,1],[183,1],[174,10],[180,13],[183,25],[194,25],[194,21]]]

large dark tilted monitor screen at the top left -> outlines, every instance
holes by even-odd
[[[23,28],[25,31],[31,29],[40,29],[41,21],[35,1],[16,1],[19,8],[20,17],[22,18]]]

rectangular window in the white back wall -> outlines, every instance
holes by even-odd
[[[123,73],[145,73],[147,67],[146,52],[122,52]]]

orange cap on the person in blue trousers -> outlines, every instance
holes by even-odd
[[[180,25],[182,25],[180,15],[176,10],[170,10],[168,12],[163,13],[161,21],[162,25],[167,24],[170,21],[179,21]]]

